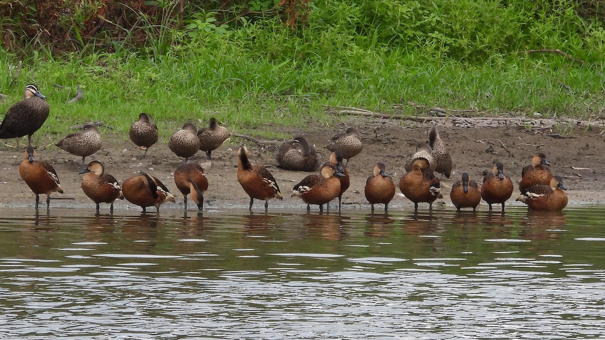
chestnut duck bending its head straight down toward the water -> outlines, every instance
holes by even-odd
[[[174,183],[183,194],[185,210],[187,210],[187,195],[189,194],[197,204],[197,208],[204,209],[204,192],[208,190],[208,179],[204,175],[204,169],[198,163],[184,162],[178,165],[174,171]]]

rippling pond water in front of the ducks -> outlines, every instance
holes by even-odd
[[[0,215],[7,338],[603,338],[605,209]]]

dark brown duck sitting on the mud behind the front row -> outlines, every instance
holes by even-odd
[[[319,166],[319,155],[304,137],[287,140],[275,154],[275,160],[284,170],[314,171]]]

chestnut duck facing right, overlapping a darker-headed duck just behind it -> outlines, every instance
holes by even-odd
[[[340,181],[338,177],[344,174],[336,169],[336,166],[325,164],[319,174],[308,175],[292,189],[292,197],[300,197],[307,203],[307,211],[311,210],[310,204],[318,204],[319,211],[324,211],[324,204],[330,203],[340,192]],[[329,209],[329,206],[327,207]]]

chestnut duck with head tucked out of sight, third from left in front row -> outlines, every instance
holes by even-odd
[[[126,178],[122,183],[122,193],[130,203],[143,208],[143,212],[148,206],[155,206],[160,212],[162,203],[174,202],[174,196],[162,181],[145,173]]]

